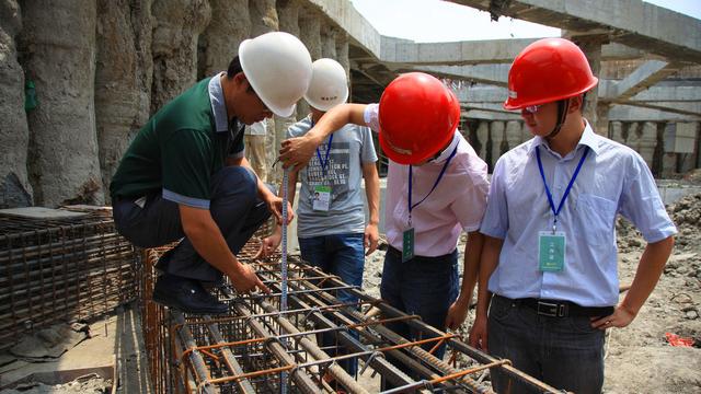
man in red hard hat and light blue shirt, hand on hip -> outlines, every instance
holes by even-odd
[[[677,232],[640,154],[583,117],[597,82],[584,53],[563,38],[540,39],[514,60],[504,107],[520,109],[535,138],[494,167],[470,334],[471,345],[575,393],[601,392],[605,329],[635,318]],[[618,213],[648,242],[621,303]],[[528,392],[499,371],[492,382],[499,393]]]

